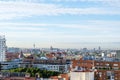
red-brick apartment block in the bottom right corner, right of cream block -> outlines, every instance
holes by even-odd
[[[120,80],[120,62],[95,61],[96,80]]]

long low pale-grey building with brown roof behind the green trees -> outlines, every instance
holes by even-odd
[[[35,60],[27,59],[24,60],[21,67],[37,67],[40,69],[46,69],[50,71],[57,71],[62,73],[69,72],[69,65],[66,64],[65,60]]]

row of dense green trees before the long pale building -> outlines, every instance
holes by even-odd
[[[31,77],[35,77],[36,74],[39,74],[42,78],[49,78],[51,76],[58,76],[60,72],[41,70],[39,68],[16,68],[10,69],[9,72],[25,72],[29,73]]]

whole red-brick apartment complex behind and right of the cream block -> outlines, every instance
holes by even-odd
[[[82,73],[86,71],[93,71],[95,80],[120,80],[120,62],[82,59],[72,60],[71,70],[78,70]],[[79,80],[81,80],[80,77]]]

